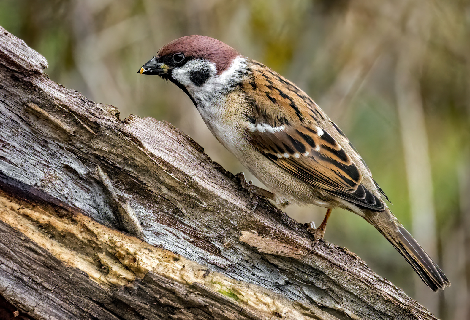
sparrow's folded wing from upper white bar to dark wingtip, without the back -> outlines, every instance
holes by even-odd
[[[359,206],[384,210],[384,203],[361,183],[351,157],[325,130],[284,126],[278,132],[247,130],[252,145],[299,179]],[[320,132],[321,132],[320,131]]]

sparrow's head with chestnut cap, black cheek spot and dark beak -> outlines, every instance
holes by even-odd
[[[187,36],[163,46],[138,73],[161,76],[181,88],[201,87],[212,76],[227,70],[239,55],[217,39]]]

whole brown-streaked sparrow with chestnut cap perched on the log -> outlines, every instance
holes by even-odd
[[[278,206],[327,208],[318,228],[308,226],[314,246],[331,210],[343,208],[376,227],[431,290],[450,286],[390,211],[343,131],[297,85],[205,36],[173,40],[138,73],[158,75],[184,91],[214,137],[272,191]]]

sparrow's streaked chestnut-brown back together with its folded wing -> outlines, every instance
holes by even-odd
[[[341,130],[297,86],[253,63],[257,68],[242,88],[254,107],[247,115],[246,136],[251,144],[315,188],[365,208],[384,210],[382,199],[362,183],[360,167],[349,154],[354,152],[352,146],[348,152],[333,137],[333,131],[344,137]],[[364,171],[370,174],[367,166]]]

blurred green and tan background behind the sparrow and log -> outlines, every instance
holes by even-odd
[[[441,319],[470,319],[469,0],[0,0],[0,25],[47,58],[52,80],[121,119],[171,122],[233,173],[247,170],[188,97],[137,70],[169,41],[202,34],[286,76],[343,129],[452,286],[428,290],[350,212],[333,211],[325,238]],[[317,225],[326,211],[286,210]]]

